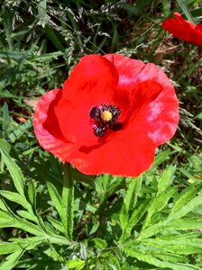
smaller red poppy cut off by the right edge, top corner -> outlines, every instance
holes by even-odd
[[[174,13],[174,18],[168,18],[161,26],[176,38],[202,45],[202,23],[190,23],[179,13]]]

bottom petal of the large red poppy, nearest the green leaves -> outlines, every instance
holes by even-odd
[[[155,148],[142,130],[120,130],[97,148],[79,148],[71,164],[84,174],[138,176],[152,166]]]

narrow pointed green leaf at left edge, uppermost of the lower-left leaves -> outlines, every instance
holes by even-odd
[[[5,165],[7,166],[13,180],[14,180],[14,186],[18,193],[20,193],[22,196],[24,196],[24,181],[23,181],[23,174],[20,170],[20,168],[15,164],[14,159],[11,158],[5,150],[0,149],[2,157],[5,161]]]

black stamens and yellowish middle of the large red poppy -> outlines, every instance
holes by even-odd
[[[123,123],[118,122],[120,113],[119,108],[112,104],[103,103],[100,107],[94,106],[89,112],[90,117],[96,121],[94,134],[103,137],[106,130],[120,130],[123,127]]]

